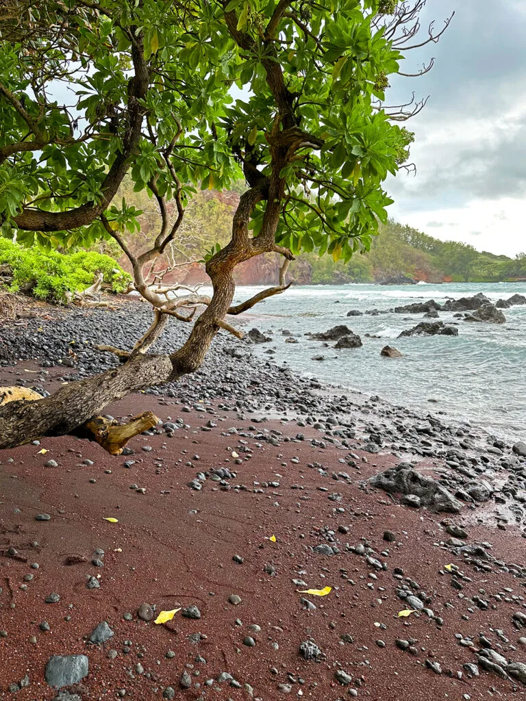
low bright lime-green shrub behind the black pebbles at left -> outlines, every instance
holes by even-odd
[[[62,254],[39,248],[22,248],[13,241],[0,238],[0,265],[11,268],[11,292],[27,292],[52,302],[67,301],[68,292],[81,292],[93,284],[97,273],[114,292],[126,289],[130,275],[109,256],[81,251]],[[0,278],[1,280],[1,278]]]

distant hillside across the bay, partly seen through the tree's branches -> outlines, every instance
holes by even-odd
[[[215,243],[224,245],[229,240],[231,221],[243,184],[236,191],[218,193],[198,192],[187,206],[182,240],[170,252],[171,262],[180,263],[188,258],[201,259]],[[128,203],[144,210],[142,233],[130,236],[128,243],[138,251],[144,246],[144,234],[158,226],[159,214],[154,203],[143,193],[133,193],[125,184],[122,194]],[[118,250],[104,250],[116,256]],[[187,254],[187,257],[184,256]],[[119,262],[126,267],[126,260]],[[161,261],[159,268],[166,267]],[[279,258],[259,256],[239,266],[236,279],[241,285],[274,283]],[[393,280],[425,280],[426,282],[499,282],[526,280],[526,254],[514,259],[477,251],[473,246],[457,241],[440,241],[410,226],[390,220],[381,226],[379,236],[372,241],[370,252],[356,254],[349,263],[335,263],[330,256],[319,257],[316,252],[302,254],[290,266],[290,272],[302,285],[330,285],[345,283],[389,283]],[[203,266],[194,264],[177,268],[165,282],[174,279],[185,283],[205,281]]]

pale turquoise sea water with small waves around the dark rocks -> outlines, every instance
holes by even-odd
[[[236,300],[252,296],[257,289],[238,287]],[[253,325],[274,333],[271,343],[254,346],[262,358],[268,358],[264,351],[273,348],[274,358],[288,362],[297,372],[378,394],[413,409],[443,411],[456,421],[526,440],[526,305],[502,310],[506,315],[503,325],[466,323],[453,319],[452,312],[440,312],[444,322],[458,322],[459,336],[398,339],[403,329],[422,320],[422,314],[346,316],[350,309],[381,310],[427,299],[443,302],[447,297],[458,299],[478,292],[497,301],[515,292],[526,295],[526,284],[292,287],[253,308],[253,324],[246,328]],[[336,324],[346,324],[359,334],[363,348],[336,351],[304,336]],[[299,342],[285,343],[281,329],[297,334]],[[365,338],[366,333],[380,338]],[[404,358],[382,358],[379,353],[386,344],[398,348]],[[325,356],[324,362],[311,360],[319,354]]]

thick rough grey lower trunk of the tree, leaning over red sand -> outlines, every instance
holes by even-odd
[[[0,449],[42,436],[75,433],[107,404],[145,387],[163,384],[173,372],[168,355],[135,355],[125,365],[63,386],[37,401],[14,401],[0,407]]]

